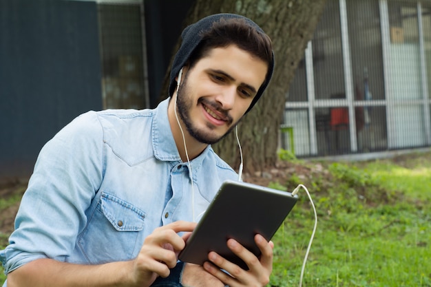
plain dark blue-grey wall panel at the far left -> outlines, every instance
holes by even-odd
[[[101,108],[96,3],[0,0],[0,179],[30,175],[45,142]]]

